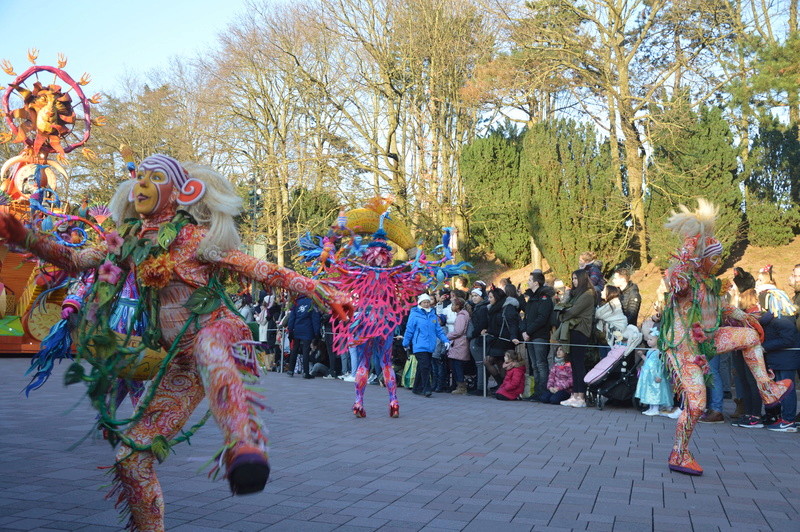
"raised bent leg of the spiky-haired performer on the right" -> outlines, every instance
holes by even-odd
[[[775,406],[781,398],[794,387],[791,379],[775,382],[770,378],[764,365],[764,349],[761,347],[758,333],[748,327],[720,327],[714,333],[714,346],[718,353],[742,350],[742,356],[756,380],[758,392],[764,406]]]

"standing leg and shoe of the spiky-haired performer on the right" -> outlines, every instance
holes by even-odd
[[[675,427],[675,443],[669,456],[669,468],[689,475],[702,475],[703,468],[689,452],[689,439],[697,420],[706,409],[706,385],[703,370],[694,363],[693,354],[683,355],[678,368],[678,381],[683,394],[684,409]]]

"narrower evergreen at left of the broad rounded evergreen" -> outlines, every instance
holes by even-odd
[[[518,268],[530,260],[519,182],[519,136],[495,131],[464,147],[460,171],[470,215],[470,247]]]

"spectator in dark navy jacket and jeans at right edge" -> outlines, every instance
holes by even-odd
[[[800,351],[792,348],[800,347],[800,333],[794,317],[775,318],[765,312],[759,323],[764,328],[764,360],[767,367],[775,373],[775,380],[794,379],[800,371]],[[795,418],[797,416],[797,394],[787,393],[781,401],[780,410],[767,412],[766,428],[777,432],[797,432]]]

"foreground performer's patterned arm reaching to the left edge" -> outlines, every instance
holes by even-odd
[[[70,276],[100,266],[107,253],[105,243],[81,249],[59,244],[45,234],[26,229],[22,222],[10,214],[0,215],[0,239],[27,249]]]

